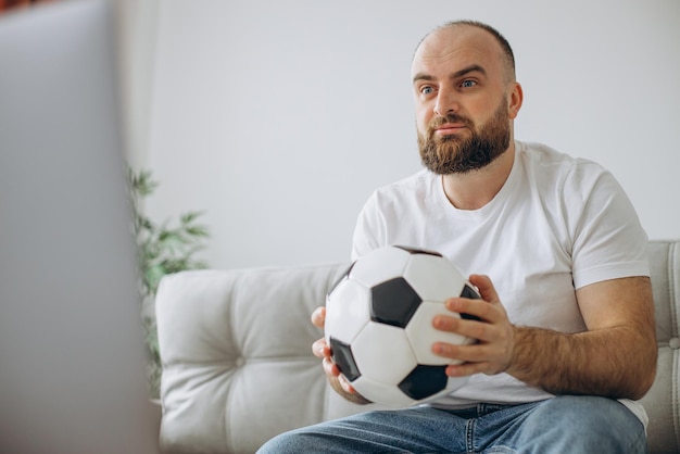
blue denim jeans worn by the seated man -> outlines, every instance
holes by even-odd
[[[618,401],[557,396],[520,405],[368,412],[282,433],[259,453],[646,453]]]

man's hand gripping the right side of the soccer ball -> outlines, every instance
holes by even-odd
[[[432,319],[435,328],[476,339],[469,345],[438,342],[432,351],[441,356],[463,361],[451,365],[446,374],[464,377],[477,373],[494,375],[505,371],[513,356],[514,326],[509,323],[493,283],[488,276],[473,275],[470,283],[477,287],[481,300],[451,298],[445,306],[457,314],[469,314],[481,320],[439,315]]]

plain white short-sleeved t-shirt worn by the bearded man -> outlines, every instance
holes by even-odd
[[[650,275],[646,234],[612,174],[519,141],[503,188],[479,210],[454,207],[441,176],[425,169],[376,190],[358,216],[352,258],[389,244],[435,250],[465,276],[489,275],[513,324],[562,332],[587,329],[575,289]],[[437,405],[550,396],[507,374],[477,374]],[[642,405],[621,402],[646,427]]]

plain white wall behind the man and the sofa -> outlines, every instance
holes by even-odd
[[[217,268],[349,260],[370,191],[420,168],[411,56],[454,18],[513,45],[517,138],[601,162],[680,237],[677,0],[162,0],[150,214],[205,210]]]

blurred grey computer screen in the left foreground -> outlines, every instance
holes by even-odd
[[[0,16],[0,452],[158,452],[111,8]]]

